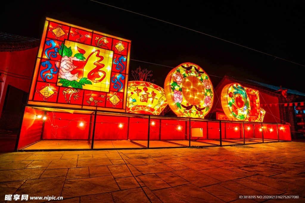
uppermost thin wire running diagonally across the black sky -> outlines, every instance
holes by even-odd
[[[258,51],[258,50],[256,50],[256,49],[252,49],[252,48],[249,48],[249,47],[246,47],[246,46],[243,46],[243,45],[240,45],[240,44],[237,44],[237,43],[228,41],[228,40],[224,40],[224,39],[221,39],[221,38],[219,38],[219,37],[215,37],[215,36],[213,36],[213,35],[209,35],[209,34],[206,34],[206,33],[203,33],[203,32],[199,32],[199,31],[197,31],[197,30],[193,30],[193,29],[190,29],[190,28],[187,28],[187,27],[184,27],[184,26],[180,26],[180,25],[177,25],[177,24],[174,24],[174,23],[170,23],[170,22],[167,22],[167,21],[164,21],[164,20],[160,20],[160,19],[157,19],[157,18],[153,18],[153,17],[150,17],[150,16],[146,16],[146,15],[143,15],[143,14],[141,14],[141,13],[129,11],[129,10],[122,9],[122,8],[119,8],[119,7],[116,7],[116,6],[113,6],[113,5],[105,4],[105,3],[102,3],[102,2],[97,2],[97,1],[94,1],[94,0],[90,0],[90,1],[96,2],[96,3],[100,3],[100,4],[103,4],[103,5],[107,5],[107,6],[116,8],[116,9],[121,9],[121,10],[124,10],[124,11],[128,11],[128,12],[131,12],[131,13],[135,13],[135,14],[138,14],[138,15],[141,15],[141,16],[145,16],[145,17],[148,17],[148,18],[151,18],[151,19],[159,20],[159,21],[164,22],[164,23],[169,23],[169,24],[174,25],[174,26],[178,26],[178,27],[181,27],[181,28],[184,28],[184,29],[187,29],[187,30],[191,30],[191,31],[200,33],[200,34],[204,34],[204,35],[206,35],[206,36],[213,37],[213,38],[216,38],[216,39],[218,39],[218,40],[222,40],[222,41],[225,41],[225,42],[228,42],[228,43],[231,43],[231,44],[235,44],[235,45],[238,45],[238,46],[240,46],[240,47],[244,47],[244,48],[250,49],[250,50],[252,50],[252,51],[257,51],[257,52],[260,52],[260,53],[262,53],[262,54],[266,54],[266,55],[268,55],[268,56],[272,56],[272,57],[275,57],[275,58],[278,58],[278,59],[282,59],[282,60],[284,60],[284,61],[288,61],[288,62],[290,62],[290,63],[294,63],[294,64],[301,65],[301,66],[304,66],[304,67],[305,67],[305,65],[302,65],[302,64],[299,64],[299,63],[296,63],[296,62],[293,62],[293,61],[289,61],[289,60],[287,60],[287,59],[280,58],[280,57],[277,57],[277,56],[274,56],[274,55],[271,55],[271,54],[267,54],[267,53],[265,53],[265,52]],[[274,59],[275,59],[275,58],[274,58]]]

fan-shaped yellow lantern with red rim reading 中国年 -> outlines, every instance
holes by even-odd
[[[164,89],[145,81],[129,81],[126,112],[159,115],[167,106]]]

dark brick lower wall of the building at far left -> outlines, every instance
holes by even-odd
[[[0,129],[17,129],[21,119],[20,112],[2,111],[0,118]]]

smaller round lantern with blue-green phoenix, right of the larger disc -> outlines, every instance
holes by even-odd
[[[250,115],[250,99],[245,88],[231,83],[222,89],[221,106],[228,118],[245,121]]]

